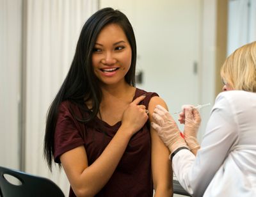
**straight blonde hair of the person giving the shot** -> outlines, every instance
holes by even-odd
[[[228,56],[220,75],[234,90],[256,92],[256,42],[243,45]]]

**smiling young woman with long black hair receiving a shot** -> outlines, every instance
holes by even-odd
[[[47,114],[45,157],[61,163],[70,196],[172,196],[169,150],[150,127],[157,93],[135,88],[136,41],[124,13],[87,20]],[[149,119],[148,119],[149,116]]]

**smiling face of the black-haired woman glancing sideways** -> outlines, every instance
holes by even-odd
[[[132,50],[125,33],[117,24],[104,27],[96,40],[92,65],[102,84],[124,82],[131,67]]]

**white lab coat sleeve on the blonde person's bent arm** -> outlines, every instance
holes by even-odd
[[[237,120],[232,103],[220,93],[211,111],[202,145],[196,157],[180,150],[172,160],[173,171],[189,194],[203,196],[214,174],[237,140]]]

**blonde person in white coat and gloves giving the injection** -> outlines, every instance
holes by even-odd
[[[162,106],[154,109],[151,124],[191,196],[256,196],[256,42],[228,56],[221,77],[223,92],[216,97],[201,145],[196,139],[201,118],[193,106],[180,113],[184,138]]]

